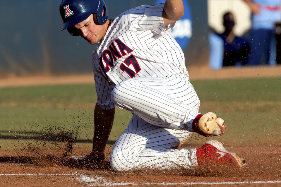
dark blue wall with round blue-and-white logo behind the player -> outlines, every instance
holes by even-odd
[[[163,1],[105,0],[109,18],[142,4]],[[62,26],[60,0],[1,1],[0,77],[32,74],[91,73],[95,45],[73,37]],[[184,0],[185,14],[172,35],[186,66],[208,61],[207,1]],[[179,26],[180,25],[180,26]]]

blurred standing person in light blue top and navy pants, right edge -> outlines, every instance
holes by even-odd
[[[249,65],[276,65],[275,23],[281,21],[281,0],[244,0],[252,11]]]

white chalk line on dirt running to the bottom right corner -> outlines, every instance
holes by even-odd
[[[239,181],[239,182],[181,182],[181,183],[169,183],[169,182],[162,182],[162,183],[132,183],[132,182],[108,182],[105,178],[100,176],[88,177],[88,176],[80,176],[80,181],[89,183],[89,186],[153,186],[153,185],[163,185],[163,186],[171,186],[171,185],[217,185],[217,184],[263,184],[263,183],[281,183],[281,181]]]

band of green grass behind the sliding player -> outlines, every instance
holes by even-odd
[[[212,139],[231,145],[280,145],[281,78],[191,83],[201,101],[200,112],[213,111],[227,122],[225,135]],[[96,99],[94,84],[1,88],[0,150],[35,141],[32,137],[42,136],[44,129],[52,126],[77,131],[77,145],[91,147]],[[109,144],[123,132],[130,118],[130,112],[116,109]],[[188,144],[201,144],[207,139],[193,134]]]

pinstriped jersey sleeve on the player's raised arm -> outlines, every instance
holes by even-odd
[[[144,41],[155,40],[167,35],[176,24],[164,25],[162,13],[164,3],[143,5],[130,10],[130,29],[140,35]]]

